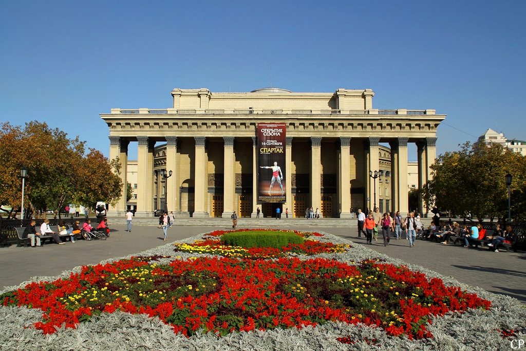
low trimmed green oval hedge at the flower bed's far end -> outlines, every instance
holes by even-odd
[[[275,247],[282,248],[288,244],[302,244],[304,239],[291,232],[234,232],[221,235],[221,244],[241,247]]]

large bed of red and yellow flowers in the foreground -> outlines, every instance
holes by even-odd
[[[276,258],[279,255],[271,252],[266,258],[272,259],[262,259],[267,253],[241,253],[236,249],[226,250],[205,244],[214,242],[218,245],[215,237],[220,234],[210,234],[186,243],[192,248],[189,253],[179,251],[179,255],[186,258],[163,255],[173,250],[173,246],[170,249],[170,245],[166,245],[157,249],[162,252],[160,255],[82,267],[78,272],[51,283],[27,284],[0,295],[0,304],[6,306],[3,308],[26,306],[41,310],[41,319],[27,326],[43,330],[44,334],[64,335],[65,330],[74,328],[85,333],[84,325],[98,325],[100,318],[107,319],[105,316],[119,316],[125,312],[154,317],[169,326],[171,334],[180,335],[180,332],[192,337],[192,343],[203,335],[201,333],[211,336],[234,333],[231,335],[246,338],[242,336],[245,332],[265,332],[265,339],[278,343],[280,330],[307,330],[306,335],[317,335],[320,332],[310,332],[315,330],[313,327],[325,330],[322,334],[327,334],[327,330],[332,329],[322,329],[326,325],[330,328],[341,325],[338,327],[340,332],[334,335],[332,331],[327,336],[332,341],[323,345],[336,342],[353,347],[389,347],[406,343],[396,342],[397,339],[433,340],[437,333],[443,340],[441,333],[446,327],[441,322],[444,319],[438,317],[451,312],[460,313],[459,316],[464,313],[482,316],[480,313],[492,308],[488,299],[460,287],[448,286],[442,279],[429,278],[405,266],[393,265],[383,259],[362,259],[354,263],[349,255],[353,250],[362,250],[360,246],[356,249],[342,246],[342,253],[329,250],[313,254],[305,250],[296,253],[298,257]],[[308,237],[305,233],[301,235]],[[325,244],[338,246],[329,243],[328,237],[321,234],[317,237],[325,241],[308,242],[323,244],[319,247],[326,247]],[[176,247],[180,249],[183,245]],[[202,254],[196,252],[197,248]],[[292,250],[286,251],[289,256],[293,253]],[[333,259],[334,255],[345,259]],[[473,312],[477,310],[480,313]],[[492,322],[499,338],[523,335],[523,327],[510,324],[513,318],[507,322]],[[93,323],[83,323],[88,321]],[[439,326],[434,327],[437,322]],[[115,323],[120,325],[123,322]],[[140,323],[144,325],[144,322]],[[110,323],[106,322],[105,328],[108,325]],[[378,332],[356,334],[352,330],[357,329],[343,326],[369,326],[371,331],[383,330],[385,336]],[[514,331],[510,334],[509,330]],[[124,329],[119,333],[124,333]],[[151,329],[148,333],[152,333]],[[461,333],[468,331],[463,328]],[[141,339],[141,336],[137,338]],[[167,338],[166,335],[160,337]],[[300,339],[304,343],[309,340],[306,336]],[[216,342],[206,340],[209,340],[208,345],[215,345],[221,338]],[[232,340],[231,336],[229,340]],[[97,343],[103,342],[99,340]],[[253,348],[252,343],[253,340],[249,348]],[[233,349],[238,347],[232,346]],[[274,348],[280,347],[274,345]]]

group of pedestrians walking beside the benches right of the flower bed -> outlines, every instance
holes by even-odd
[[[380,208],[375,208],[375,212],[370,211],[367,214],[358,209],[358,237],[364,234],[368,245],[372,245],[372,240],[377,239],[379,229],[382,230],[383,245],[387,246],[391,240],[391,233],[395,233],[397,240],[401,239],[402,231],[406,233],[406,239],[409,240],[409,247],[414,246],[417,237],[417,230],[422,228],[420,217],[414,217],[410,212],[406,218],[402,218],[400,211],[391,217],[389,212],[380,213]],[[364,230],[365,229],[365,230]]]

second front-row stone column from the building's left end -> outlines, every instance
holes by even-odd
[[[150,139],[137,137],[137,212],[136,217],[153,217],[153,155]],[[151,160],[151,164],[150,164]]]

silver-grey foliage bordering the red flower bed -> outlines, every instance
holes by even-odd
[[[342,254],[320,254],[315,256],[289,255],[305,258],[337,259],[355,264],[366,258],[381,258],[395,265],[406,265],[418,270],[429,278],[441,278],[446,285],[460,286],[462,289],[491,300],[490,310],[470,309],[465,313],[452,312],[444,317],[433,317],[428,330],[433,338],[409,340],[406,337],[390,337],[381,328],[366,325],[348,325],[340,322],[328,322],[316,327],[302,329],[274,329],[261,332],[240,332],[218,337],[212,333],[197,334],[187,338],[175,334],[170,326],[157,317],[131,315],[124,312],[103,313],[92,318],[89,323],[79,324],[76,329],[61,327],[57,332],[44,335],[42,330],[33,328],[33,324],[42,319],[42,311],[26,307],[0,307],[0,350],[510,350],[512,339],[526,339],[526,308],[514,298],[489,293],[478,287],[458,282],[452,277],[440,274],[417,265],[410,265],[399,259],[380,254],[368,247],[352,243],[350,240],[328,233],[317,239],[335,244],[351,244],[352,248]],[[202,239],[196,235],[179,243],[191,243]],[[205,235],[206,236],[206,235]],[[213,256],[210,254],[174,253],[174,246],[167,244],[144,252],[104,260],[114,262],[131,256],[161,255],[160,263],[169,263],[174,259]],[[0,294],[22,288],[30,282],[53,281],[67,278],[70,273],[79,273],[80,267],[63,272],[57,277],[34,277],[19,286],[7,287]],[[503,338],[498,330],[513,329],[516,337]],[[338,337],[349,336],[355,344],[342,344]],[[376,339],[376,345],[366,343],[366,339]],[[517,346],[517,342],[514,344]]]

